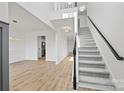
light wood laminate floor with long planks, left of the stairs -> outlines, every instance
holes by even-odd
[[[61,63],[22,61],[10,64],[10,90],[14,91],[61,91],[72,88],[72,61],[70,57]],[[92,90],[82,88],[80,90]]]

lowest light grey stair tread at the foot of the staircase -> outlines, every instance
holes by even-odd
[[[98,84],[90,84],[90,83],[85,83],[85,82],[79,82],[79,87],[84,87],[84,88],[92,88],[96,90],[115,90],[113,86],[104,86],[104,85],[98,85]]]

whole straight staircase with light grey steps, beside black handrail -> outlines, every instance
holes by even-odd
[[[79,29],[79,43],[79,90],[80,88],[115,90],[103,57],[88,27]]]

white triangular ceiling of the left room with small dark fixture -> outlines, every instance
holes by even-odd
[[[17,20],[18,23],[12,22]],[[51,28],[41,20],[33,16],[17,3],[9,3],[9,22],[10,30],[17,31],[36,31],[36,30],[51,30]]]

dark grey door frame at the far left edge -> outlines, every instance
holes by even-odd
[[[0,62],[0,91],[9,90],[9,24],[0,21],[1,29],[1,62]]]

